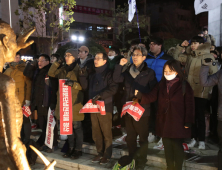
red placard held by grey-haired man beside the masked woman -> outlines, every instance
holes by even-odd
[[[127,112],[135,119],[135,121],[139,121],[144,111],[145,109],[140,106],[139,103],[133,104],[133,101],[126,102],[126,104],[123,105],[121,117]]]

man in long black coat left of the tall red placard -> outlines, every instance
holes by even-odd
[[[48,118],[49,107],[55,110],[56,107],[56,91],[58,90],[57,79],[48,76],[50,68],[50,57],[47,54],[41,54],[38,60],[28,63],[23,74],[32,81],[31,94],[31,111],[37,110],[38,124],[42,129],[42,134],[37,143],[41,146],[40,150],[46,149],[47,152],[52,152],[53,149],[46,148],[44,145],[46,137],[46,125]],[[54,128],[53,146],[57,146],[58,142],[57,126]]]

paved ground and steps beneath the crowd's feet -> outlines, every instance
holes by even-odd
[[[36,140],[39,134],[36,133],[32,135],[32,138]],[[65,141],[59,142],[60,149],[63,147]],[[148,162],[147,168],[149,170],[165,170],[166,169],[166,161],[163,150],[156,150],[153,147],[156,143],[149,144],[148,150]],[[123,155],[127,155],[127,147],[123,143],[113,142],[113,156],[112,160],[106,166],[101,166],[99,164],[91,163],[91,159],[94,155],[97,154],[95,145],[85,143],[83,145],[83,156],[78,160],[65,159],[62,157],[62,152],[57,150],[52,154],[48,154],[43,152],[43,154],[51,161],[52,159],[57,161],[56,166],[58,169],[67,169],[67,170],[107,170],[112,169],[115,162]],[[210,140],[206,143],[205,150],[199,150],[197,146],[191,148],[189,153],[186,153],[184,169],[186,170],[216,170],[217,168],[217,152],[218,146],[211,142]],[[37,159],[37,163],[42,163],[40,159]],[[42,165],[35,165],[32,169],[43,169]]]

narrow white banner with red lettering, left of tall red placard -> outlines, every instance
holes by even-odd
[[[54,138],[54,127],[56,124],[56,121],[54,119],[54,110],[51,110],[49,108],[48,111],[48,121],[47,121],[47,127],[46,127],[46,137],[45,137],[45,145],[52,149],[53,145],[53,138]]]

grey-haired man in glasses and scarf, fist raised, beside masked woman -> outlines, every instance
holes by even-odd
[[[138,90],[143,94],[150,92],[156,85],[157,80],[155,72],[148,68],[145,59],[147,56],[147,50],[142,46],[135,46],[133,49],[133,64],[122,73],[123,66],[127,63],[127,59],[120,60],[120,64],[116,66],[113,73],[113,80],[116,83],[124,82],[125,84],[125,102],[132,101],[135,98],[135,91]],[[127,147],[129,149],[129,156],[136,159],[136,169],[143,169],[146,164],[146,157],[148,151],[148,124],[150,115],[150,105],[141,105],[145,112],[139,121],[135,121],[134,118],[126,114],[124,116],[126,131],[127,131]],[[139,156],[136,156],[137,149],[137,136],[140,139]]]

